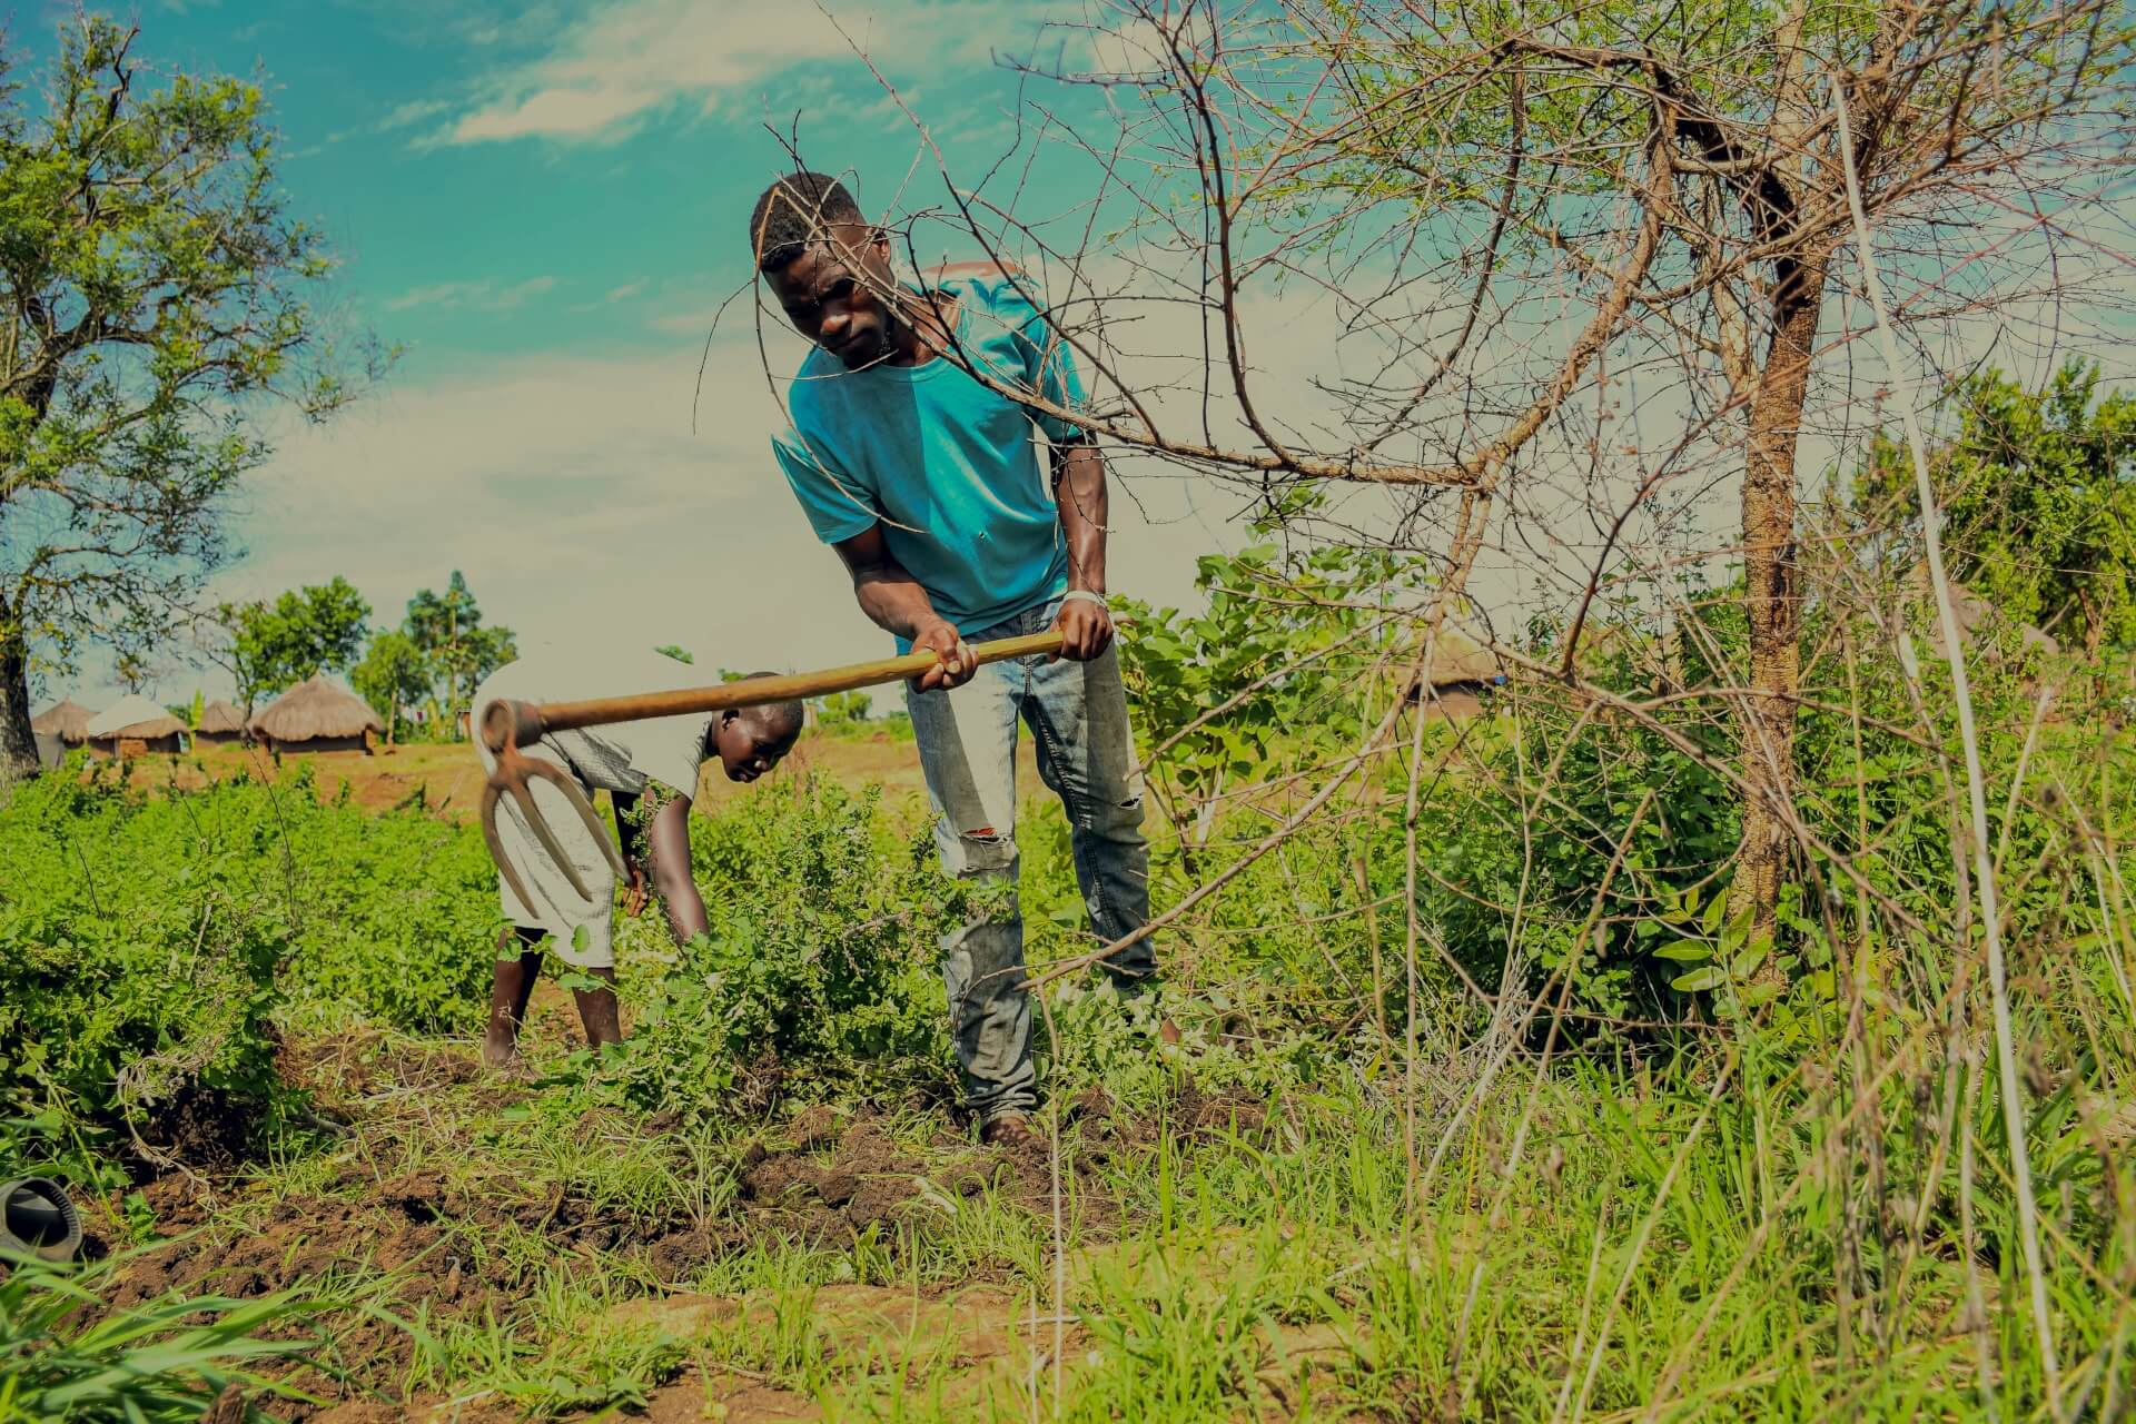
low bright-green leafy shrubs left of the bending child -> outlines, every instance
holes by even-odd
[[[284,1001],[481,1023],[498,912],[470,828],[320,803],[305,773],[141,796],[120,766],[15,788],[0,858],[0,1097],[265,1099]]]

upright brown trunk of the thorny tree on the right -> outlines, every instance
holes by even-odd
[[[1752,912],[1752,939],[1771,944],[1788,871],[1794,805],[1794,709],[1803,675],[1803,600],[1794,568],[1794,442],[1809,395],[1809,361],[1824,305],[1824,263],[1792,267],[1773,295],[1773,348],[1749,401],[1743,470],[1743,608],[1749,696],[1743,698],[1743,841],[1728,918]],[[1773,956],[1758,978],[1777,976]]]

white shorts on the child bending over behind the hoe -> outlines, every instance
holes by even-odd
[[[472,715],[476,719],[481,719],[483,707],[493,698],[517,696],[525,700],[523,694],[513,692],[508,677],[502,679],[502,687],[498,683],[500,679],[491,677],[474,690]],[[498,758],[483,743],[481,726],[474,728],[474,749],[483,758],[483,775],[487,775],[498,764]],[[547,741],[521,747],[519,754],[562,766],[564,775],[572,777],[592,803],[592,788]],[[549,833],[555,835],[564,854],[570,856],[572,869],[579,871],[581,884],[594,892],[594,899],[581,899],[570,888],[570,880],[564,877],[564,871],[534,837],[525,816],[519,811],[519,803],[506,792],[498,798],[498,843],[504,848],[504,858],[519,871],[519,880],[528,888],[528,899],[521,901],[513,895],[511,882],[500,871],[498,903],[504,907],[504,918],[521,929],[540,929],[553,935],[557,959],[572,969],[611,969],[615,965],[611,933],[615,922],[615,867],[609,865],[609,856],[594,841],[594,833],[579,820],[579,813],[570,807],[562,790],[540,777],[534,777],[530,788],[534,805],[549,824]],[[607,835],[607,830],[600,835]],[[506,948],[511,950],[508,959],[519,956],[519,946]]]

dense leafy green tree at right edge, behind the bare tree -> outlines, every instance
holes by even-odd
[[[2136,397],[2093,399],[2095,363],[2070,361],[2040,391],[2001,371],[1950,389],[1957,433],[1931,470],[1952,574],[2001,613],[2098,658],[2136,645]],[[1878,438],[1856,504],[1899,508],[1920,532],[1905,446]]]

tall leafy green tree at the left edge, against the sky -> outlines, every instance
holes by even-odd
[[[224,561],[252,423],[320,418],[348,363],[312,292],[331,269],[288,216],[261,88],[152,88],[135,32],[70,21],[34,102],[0,53],[0,762],[34,764],[32,670],[85,643],[158,643]]]

